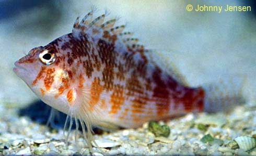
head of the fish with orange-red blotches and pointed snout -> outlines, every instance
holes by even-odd
[[[65,58],[66,53],[50,43],[31,49],[15,62],[13,70],[42,101],[54,107],[66,103],[62,94],[71,86],[72,73]]]

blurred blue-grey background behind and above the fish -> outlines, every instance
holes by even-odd
[[[249,5],[251,11],[188,12],[188,4]],[[254,1],[0,0],[0,101],[24,107],[38,100],[13,72],[14,62],[31,48],[71,32],[76,17],[83,17],[93,5],[98,8],[96,16],[109,10],[109,17],[121,17],[119,23],[126,24],[126,30],[147,48],[162,51],[192,86],[227,74],[246,74],[248,92],[256,86]]]

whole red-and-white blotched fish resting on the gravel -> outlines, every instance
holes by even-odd
[[[243,79],[189,86],[173,63],[168,70],[159,64],[162,59],[138,44],[125,25],[106,21],[106,14],[94,19],[94,12],[78,17],[72,32],[31,49],[14,67],[43,102],[67,114],[64,129],[69,124],[70,132],[75,121],[77,130],[80,123],[90,148],[92,126],[137,128],[242,100]]]

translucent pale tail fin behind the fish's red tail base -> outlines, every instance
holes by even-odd
[[[205,84],[204,111],[230,111],[235,105],[245,103],[243,86],[246,83],[246,76],[233,76],[223,79],[219,83]]]

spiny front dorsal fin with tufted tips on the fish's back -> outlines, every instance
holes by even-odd
[[[146,51],[143,45],[137,44],[138,39],[132,37],[133,33],[123,32],[125,25],[114,27],[118,20],[117,18],[104,22],[107,16],[107,11],[105,14],[93,19],[94,12],[95,9],[92,9],[80,22],[79,18],[77,18],[72,32],[89,34],[92,38],[101,38],[107,42],[115,42],[119,40],[127,47],[127,49],[133,52],[139,51],[141,53]]]

